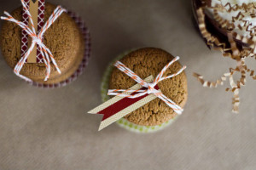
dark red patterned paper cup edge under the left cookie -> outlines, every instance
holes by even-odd
[[[73,18],[73,20],[77,23],[77,25],[80,28],[80,31],[84,37],[84,58],[81,62],[81,64],[79,65],[79,68],[77,71],[75,71],[73,73],[73,75],[71,77],[68,77],[67,80],[63,81],[63,82],[58,82],[58,83],[54,83],[54,84],[44,84],[44,83],[39,83],[39,82],[28,82],[29,84],[31,84],[32,86],[36,86],[38,88],[60,88],[60,87],[64,87],[67,84],[69,84],[70,82],[73,82],[74,80],[76,80],[79,75],[82,74],[82,72],[84,71],[84,68],[86,67],[86,65],[88,65],[88,60],[90,58],[90,49],[91,49],[91,45],[90,45],[90,32],[88,30],[88,28],[85,26],[84,24],[84,20],[82,20],[78,14],[73,13],[72,11],[67,11],[67,14],[69,14],[69,16],[71,18]]]

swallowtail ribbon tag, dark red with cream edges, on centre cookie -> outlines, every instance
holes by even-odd
[[[145,82],[153,82],[154,77],[150,76],[147,77]],[[133,87],[129,88],[132,90],[138,90],[138,89],[145,89],[142,85],[136,84]],[[155,89],[159,89],[156,85],[154,87]],[[125,93],[125,94],[131,94],[131,93]],[[102,130],[102,128],[107,127],[108,125],[112,124],[113,122],[118,121],[120,118],[128,115],[132,111],[136,111],[138,108],[142,107],[143,105],[146,105],[151,100],[157,98],[155,94],[145,94],[138,98],[127,98],[127,97],[120,97],[115,96],[112,99],[109,99],[102,105],[97,106],[95,109],[89,111],[90,114],[102,114],[102,122],[99,127],[99,131]]]

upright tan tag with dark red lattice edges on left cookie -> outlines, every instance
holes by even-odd
[[[26,8],[29,10],[32,15],[32,21],[34,24],[35,30],[38,32],[44,26],[44,10],[45,10],[45,2],[44,0],[24,0],[23,3],[26,5]],[[23,8],[22,11],[22,19],[23,22],[32,29],[32,23],[29,20],[28,14],[26,14],[26,9]],[[21,56],[26,54],[27,49],[32,44],[32,38],[28,36],[27,32],[22,30],[21,32]],[[27,63],[44,63],[43,56],[40,53],[40,49],[38,45],[32,49],[32,52],[29,54],[26,59]]]

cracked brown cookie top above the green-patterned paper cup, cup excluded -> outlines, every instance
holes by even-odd
[[[138,77],[145,79],[150,75],[156,77],[160,71],[174,57],[160,48],[141,48],[130,54],[125,55],[120,61],[131,71],[134,71]],[[173,63],[165,72],[164,76],[176,73],[182,68],[178,62]],[[128,89],[135,85],[131,77],[114,68],[109,80],[109,89]],[[183,107],[188,98],[187,77],[182,72],[177,77],[172,77],[158,83],[160,90],[167,98],[172,99],[177,105]],[[177,116],[161,99],[154,99],[143,107],[131,112],[125,116],[129,122],[143,126],[160,125]]]

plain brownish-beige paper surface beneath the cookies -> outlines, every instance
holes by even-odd
[[[71,85],[45,90],[15,77],[0,57],[1,170],[256,169],[256,82],[248,78],[235,115],[227,84],[201,88],[192,77],[196,71],[213,80],[235,62],[207,49],[189,0],[50,2],[77,11],[90,27],[90,64]],[[0,0],[0,12],[19,5]],[[102,116],[86,111],[101,104],[102,73],[117,54],[137,47],[164,48],[188,65],[183,116],[159,133],[131,133],[115,124],[97,132]]]

